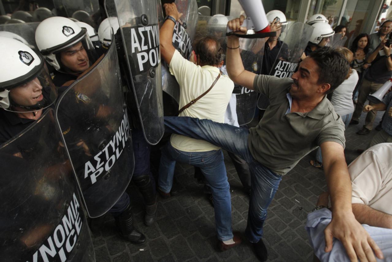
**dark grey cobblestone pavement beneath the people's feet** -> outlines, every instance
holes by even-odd
[[[374,126],[383,112],[377,114]],[[346,160],[350,163],[366,148],[377,131],[359,136],[355,132],[360,125],[346,130]],[[318,195],[326,190],[322,170],[311,167],[309,161],[315,152],[299,161],[298,165],[283,177],[272,201],[265,222],[264,242],[269,251],[269,261],[312,261],[312,248],[304,229],[307,213],[315,206]],[[241,189],[241,183],[225,154],[227,176],[230,183],[233,230],[243,232],[247,224],[249,197]],[[151,227],[143,224],[143,199],[134,185],[128,187],[134,206],[136,227],[147,240],[135,246],[117,236],[114,220],[106,214],[93,222],[93,243],[97,262],[127,261],[257,261],[246,240],[225,252],[216,250],[214,209],[203,194],[203,185],[193,178],[193,167],[176,165],[175,176],[180,184],[178,195],[158,204],[158,217]]]

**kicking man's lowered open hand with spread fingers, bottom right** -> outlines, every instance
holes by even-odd
[[[324,230],[325,252],[332,250],[332,240],[337,238],[346,249],[351,262],[375,262],[376,257],[383,259],[383,253],[367,231],[351,212],[332,214],[332,220]],[[374,253],[373,253],[374,251]]]

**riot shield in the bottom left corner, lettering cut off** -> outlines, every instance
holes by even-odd
[[[53,109],[0,146],[2,261],[95,261]]]

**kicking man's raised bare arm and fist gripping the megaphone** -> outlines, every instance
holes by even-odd
[[[244,17],[241,15],[240,18],[230,20],[227,26],[232,31],[240,31],[245,34],[247,29],[241,27]],[[240,41],[236,36],[227,37],[227,51],[226,51],[226,69],[230,79],[241,86],[245,86],[248,89],[253,88],[253,80],[256,74],[245,70],[241,55],[240,55]]]

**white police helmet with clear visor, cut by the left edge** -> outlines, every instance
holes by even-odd
[[[49,80],[50,76],[44,66],[42,56],[22,42],[8,37],[0,37],[0,50],[2,50],[0,56],[0,70],[2,72],[0,74],[0,107],[13,111],[10,108],[20,106],[25,108],[25,112],[33,112],[53,104],[57,93],[53,83]],[[23,106],[15,104],[9,97],[11,90],[36,78],[46,88],[42,90],[42,95],[45,92],[44,98],[41,98],[36,104]]]

